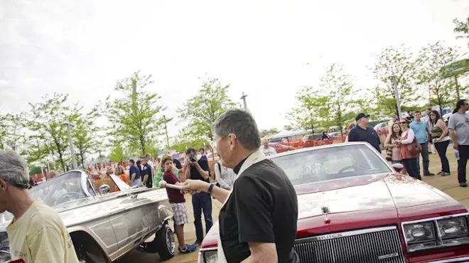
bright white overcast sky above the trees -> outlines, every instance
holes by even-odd
[[[323,66],[343,63],[370,88],[371,54],[389,45],[441,40],[465,51],[452,21],[468,14],[465,0],[0,0],[0,112],[53,92],[89,109],[141,70],[176,117],[207,73],[230,83],[235,102],[247,93],[260,128],[283,127],[296,91],[316,85]]]

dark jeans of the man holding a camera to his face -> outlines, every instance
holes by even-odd
[[[208,193],[195,193],[192,195],[192,206],[194,208],[194,225],[195,225],[195,236],[197,241],[202,242],[203,240],[203,227],[202,227],[202,212],[205,218],[205,232],[208,233],[210,227],[213,225],[212,220],[212,198]]]

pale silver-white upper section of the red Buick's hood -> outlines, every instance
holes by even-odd
[[[296,187],[298,219],[360,210],[446,203],[453,198],[422,181],[400,174],[358,176]]]

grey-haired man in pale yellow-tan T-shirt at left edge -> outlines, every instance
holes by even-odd
[[[28,192],[26,163],[15,151],[0,151],[0,213],[14,215],[6,227],[11,259],[26,263],[77,263],[58,213]],[[21,261],[20,261],[21,262]]]

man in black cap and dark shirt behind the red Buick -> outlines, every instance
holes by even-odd
[[[369,126],[369,119],[370,115],[365,113],[360,113],[355,117],[357,126],[350,130],[348,141],[366,141],[381,153],[381,149],[379,148],[381,142],[379,141],[377,132]]]

